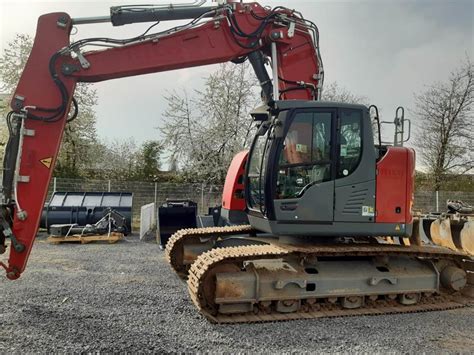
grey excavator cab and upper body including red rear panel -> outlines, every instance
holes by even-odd
[[[406,212],[412,174],[403,171],[413,153],[385,147],[380,159],[366,106],[288,100],[276,102],[271,112],[260,125],[246,169],[252,226],[314,237],[411,234]],[[383,206],[395,216],[377,221],[385,197],[376,195],[377,185],[391,183],[377,176],[378,162],[386,159],[383,164],[393,172],[388,180],[398,179],[400,190]]]

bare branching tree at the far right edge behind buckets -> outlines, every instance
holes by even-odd
[[[447,174],[462,175],[474,168],[473,63],[467,58],[446,82],[429,86],[415,100],[415,144],[439,190]]]

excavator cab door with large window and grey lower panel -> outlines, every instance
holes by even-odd
[[[336,110],[296,110],[277,154],[274,213],[280,222],[334,219]]]

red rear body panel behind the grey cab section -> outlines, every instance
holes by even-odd
[[[412,223],[411,201],[415,175],[413,149],[389,147],[377,163],[375,209],[378,223]],[[400,213],[396,208],[400,208]]]

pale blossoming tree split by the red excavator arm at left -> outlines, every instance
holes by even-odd
[[[25,34],[17,34],[8,43],[0,59],[1,90],[12,95],[33,46],[33,39]],[[93,164],[97,133],[95,128],[96,116],[94,105],[97,103],[97,93],[87,84],[78,84],[74,97],[79,103],[77,118],[66,126],[61,151],[59,153],[55,175],[62,177],[80,177],[90,164]],[[1,112],[5,117],[8,108]],[[5,125],[0,125],[2,148],[6,144],[7,134]],[[1,152],[3,159],[3,151]]]

